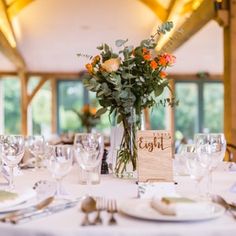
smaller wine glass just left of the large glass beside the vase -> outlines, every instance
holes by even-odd
[[[64,195],[62,180],[70,172],[73,165],[74,149],[71,145],[52,146],[52,152],[48,159],[48,169],[57,182],[56,197]]]

